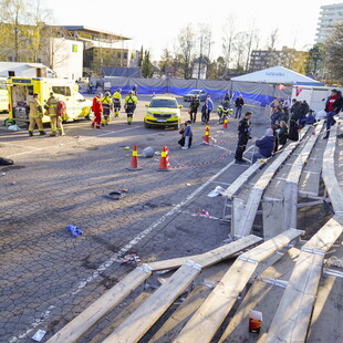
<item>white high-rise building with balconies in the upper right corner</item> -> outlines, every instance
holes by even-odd
[[[324,43],[334,25],[343,21],[343,3],[322,6],[315,33],[315,42]]]

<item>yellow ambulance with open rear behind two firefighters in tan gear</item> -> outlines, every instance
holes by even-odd
[[[80,94],[79,85],[73,80],[45,77],[9,77],[7,80],[9,92],[9,118],[29,122],[28,102],[38,93],[38,100],[44,107],[50,93],[65,102],[66,115],[63,121],[73,121],[79,117],[91,118],[92,102]],[[50,122],[50,116],[43,115],[43,123]]]

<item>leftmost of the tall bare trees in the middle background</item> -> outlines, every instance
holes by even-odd
[[[185,79],[189,79],[190,75],[190,61],[195,52],[195,33],[193,27],[189,24],[183,28],[178,35],[178,50],[181,55]]]

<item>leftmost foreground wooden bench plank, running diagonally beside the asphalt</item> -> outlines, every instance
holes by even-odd
[[[137,267],[105,294],[94,301],[87,309],[74,318],[70,323],[67,323],[63,329],[61,329],[56,334],[54,334],[50,340],[48,340],[48,343],[76,342],[104,315],[111,312],[118,303],[129,295],[150,274],[150,269]]]

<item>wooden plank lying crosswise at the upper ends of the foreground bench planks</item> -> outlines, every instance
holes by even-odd
[[[217,249],[210,250],[201,254],[195,254],[184,258],[156,261],[149,263],[149,268],[153,271],[164,270],[164,269],[175,269],[186,263],[187,260],[193,260],[194,262],[200,264],[201,267],[209,267],[215,263],[218,263],[225,259],[228,259],[230,256],[245,250],[251,246],[259,243],[262,238],[250,235],[243,239],[232,241],[228,245],[221,246]]]

